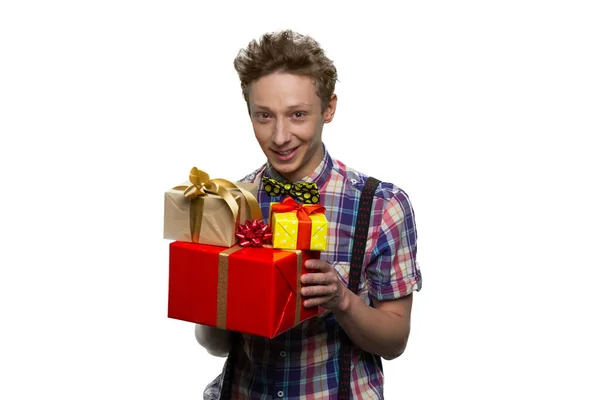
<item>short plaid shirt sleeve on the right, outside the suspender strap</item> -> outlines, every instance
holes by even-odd
[[[395,188],[392,195],[382,201],[380,224],[374,228],[377,244],[366,274],[371,297],[392,300],[421,289],[417,228],[413,207],[405,192]]]

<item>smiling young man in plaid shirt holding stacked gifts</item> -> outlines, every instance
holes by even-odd
[[[321,259],[307,261],[310,273],[301,278],[305,305],[319,307],[318,317],[272,340],[196,326],[201,345],[213,355],[228,355],[205,399],[227,391],[233,399],[335,399],[344,380],[346,398],[383,399],[381,358],[403,353],[412,292],[421,288],[411,203],[400,188],[377,182],[355,294],[348,288],[349,271],[368,177],[333,159],[322,142],[323,126],[336,110],[336,68],[317,42],[291,31],[250,42],[234,66],[267,158],[243,181],[259,183],[264,215],[271,201],[287,195],[275,193],[286,183],[316,183],[318,197],[312,188],[308,202],[327,209],[329,236]],[[350,374],[342,379],[344,362]]]

